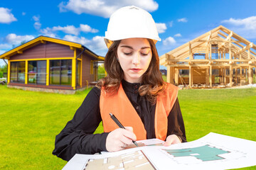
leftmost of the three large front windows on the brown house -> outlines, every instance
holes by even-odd
[[[25,83],[25,62],[11,62],[11,82]]]

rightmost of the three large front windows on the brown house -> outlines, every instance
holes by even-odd
[[[72,60],[50,60],[50,84],[71,86]]]

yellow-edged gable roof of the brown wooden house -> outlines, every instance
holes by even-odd
[[[70,46],[70,49],[77,48],[80,50],[85,50],[85,52],[90,53],[93,57],[97,58],[98,60],[105,60],[105,57],[96,55],[95,52],[92,52],[89,48],[85,47],[84,45],[81,45],[76,42],[71,42],[68,40],[61,40],[58,38],[50,38],[50,37],[46,37],[43,35],[39,36],[38,38],[34,38],[33,40],[30,40],[30,41],[24,43],[23,45],[19,45],[18,47],[15,47],[12,50],[5,52],[4,54],[0,55],[0,59],[8,60],[9,57],[16,55],[16,54],[22,54],[22,52],[24,50],[27,50],[28,48],[31,48],[40,43],[46,43],[46,41],[47,42],[55,42],[55,43],[62,44],[62,45],[68,45],[68,46]]]

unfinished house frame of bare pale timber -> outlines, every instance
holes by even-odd
[[[167,67],[166,81],[186,84],[190,88],[212,88],[216,77],[218,86],[223,87],[252,84],[255,62],[256,45],[224,26],[218,26],[160,57],[160,64]],[[182,70],[188,70],[188,77],[181,77]],[[215,76],[213,70],[217,70]]]

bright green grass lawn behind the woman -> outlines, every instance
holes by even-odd
[[[63,95],[0,86],[0,169],[62,169],[67,162],[51,154],[55,135],[88,91]],[[256,141],[256,88],[181,90],[178,99],[188,141],[209,132]]]

